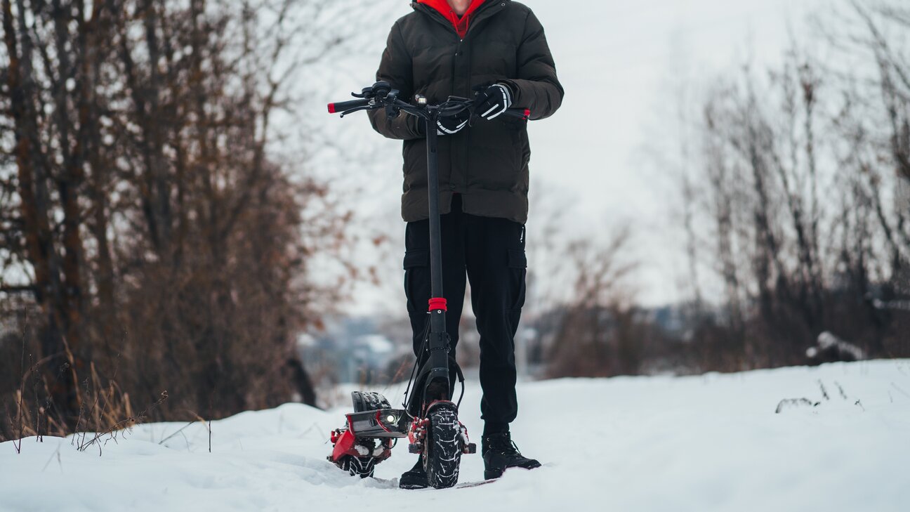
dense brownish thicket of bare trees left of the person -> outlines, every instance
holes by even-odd
[[[170,390],[158,417],[315,403],[296,337],[336,293],[308,261],[346,217],[275,156],[273,119],[341,40],[298,17],[342,6],[0,7],[0,299],[41,312],[25,339],[49,405],[35,432],[105,430],[84,411],[109,385],[147,403]]]

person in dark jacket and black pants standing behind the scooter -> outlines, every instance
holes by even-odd
[[[443,289],[449,299],[447,332],[454,354],[464,302],[465,276],[480,332],[481,452],[484,476],[507,467],[540,466],[521,456],[509,424],[518,413],[514,336],[524,304],[524,223],[528,218],[526,122],[501,116],[527,108],[531,119],[560,107],[563,90],[543,28],[531,9],[511,0],[418,0],[414,12],[392,26],[377,80],[399,89],[401,98],[473,97],[485,119],[440,119],[440,214]],[[423,121],[371,113],[373,128],[404,140],[405,294],[420,353],[430,299],[430,236],[426,139]],[[427,486],[418,461],[401,476],[404,488]]]

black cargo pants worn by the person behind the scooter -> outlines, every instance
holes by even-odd
[[[515,396],[515,332],[524,305],[524,226],[507,219],[478,217],[461,211],[459,195],[451,212],[440,218],[442,231],[442,289],[449,302],[446,331],[454,357],[459,339],[465,276],[480,332],[480,413],[484,434],[507,432],[518,414]],[[413,330],[414,353],[420,353],[429,321],[430,221],[409,222],[405,233],[404,291]],[[454,372],[451,373],[454,376]]]

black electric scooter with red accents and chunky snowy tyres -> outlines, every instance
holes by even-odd
[[[333,445],[329,460],[351,475],[373,476],[375,466],[391,456],[393,439],[407,436],[408,450],[420,454],[430,486],[447,488],[458,483],[461,455],[474,454],[468,429],[458,419],[464,396],[464,375],[450,355],[450,336],[446,333],[446,299],[442,293],[442,242],[440,238],[440,183],[437,121],[469,114],[474,119],[474,101],[449,97],[439,105],[429,105],[426,97],[414,98],[416,105],[399,98],[399,91],[388,82],[364,88],[350,101],[329,104],[329,113],[341,117],[361,110],[384,108],[389,119],[400,113],[420,118],[427,133],[427,179],[430,200],[430,321],[423,334],[418,360],[411,370],[404,409],[392,409],[378,393],[352,393],[354,413],[347,415],[343,428],[331,434]],[[503,115],[527,120],[527,109],[509,108]],[[419,369],[418,369],[419,368]],[[458,402],[452,401],[455,379],[461,384]]]

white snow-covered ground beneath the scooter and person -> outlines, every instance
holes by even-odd
[[[185,424],[142,425],[100,456],[71,439],[27,438],[21,455],[4,443],[0,510],[883,512],[910,504],[908,360],[567,379],[521,384],[519,393],[514,437],[544,466],[490,485],[399,490],[414,461],[404,443],[377,467],[379,479],[347,476],[325,459],[343,410],[287,404],[214,422],[211,453],[198,424],[177,435]],[[817,405],[775,414],[790,398]],[[478,404],[471,384],[461,416],[475,438]],[[480,456],[461,467],[461,482],[481,479]]]

